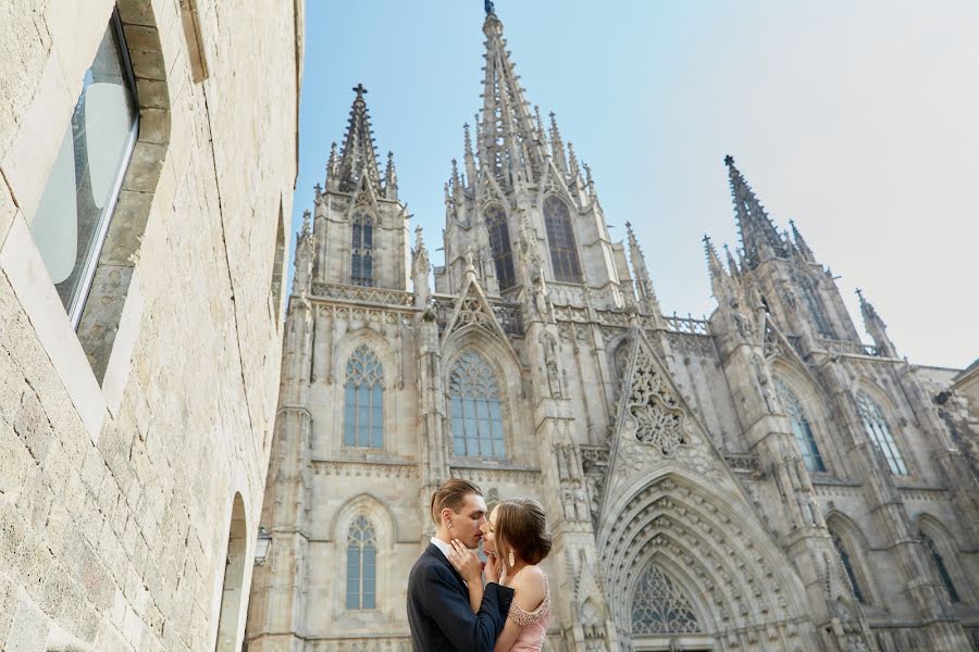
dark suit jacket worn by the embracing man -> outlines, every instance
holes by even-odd
[[[503,630],[513,589],[486,585],[479,613],[469,590],[434,543],[408,575],[408,624],[414,652],[492,652]]]

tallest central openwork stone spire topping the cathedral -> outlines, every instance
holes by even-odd
[[[543,166],[545,151],[535,138],[530,104],[523,97],[496,13],[487,11],[483,33],[485,78],[476,147],[481,165],[488,166],[505,187],[511,187],[518,178],[533,180],[531,177]]]

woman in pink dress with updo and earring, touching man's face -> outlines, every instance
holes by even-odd
[[[490,513],[483,530],[486,577],[513,588],[513,601],[494,652],[540,652],[550,620],[550,589],[537,564],[550,552],[550,534],[544,507],[532,498],[500,502]],[[473,613],[483,600],[483,574],[479,557],[458,539],[453,540],[449,562],[469,588]]]

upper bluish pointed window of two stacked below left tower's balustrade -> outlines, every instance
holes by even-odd
[[[381,448],[384,443],[384,367],[367,344],[347,361],[344,385],[344,446]]]

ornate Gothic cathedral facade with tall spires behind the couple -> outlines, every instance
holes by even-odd
[[[705,238],[709,319],[665,316],[492,11],[483,32],[443,266],[409,233],[361,87],[315,189],[248,649],[410,650],[408,570],[455,476],[491,505],[545,505],[548,650],[979,650],[975,415],[954,372],[903,360],[863,297],[862,343],[730,156],[742,248]]]

